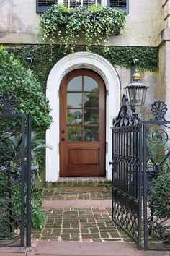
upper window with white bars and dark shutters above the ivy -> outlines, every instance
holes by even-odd
[[[126,14],[129,12],[129,0],[107,0],[110,7],[118,7],[122,9]],[[37,8],[36,12],[45,12],[52,4],[57,4],[61,0],[36,0]],[[91,7],[92,4],[103,4],[103,0],[63,0],[63,4],[66,4],[66,7],[76,8],[76,7]]]

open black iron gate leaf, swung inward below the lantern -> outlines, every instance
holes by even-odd
[[[112,127],[112,219],[141,247],[141,126],[127,99]],[[139,147],[140,145],[140,147]]]

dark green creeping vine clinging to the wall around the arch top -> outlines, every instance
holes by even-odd
[[[28,57],[35,59],[30,68],[44,92],[50,69],[65,56],[64,50],[59,46],[6,46],[6,50],[13,53],[27,68],[29,64],[26,59]],[[76,51],[84,51],[84,48],[77,47]],[[104,48],[93,48],[93,52],[106,58],[115,67],[133,69],[132,59],[138,58],[140,70],[158,72],[158,48],[111,46],[108,53],[104,52]]]

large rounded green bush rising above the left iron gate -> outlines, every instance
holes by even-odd
[[[40,83],[25,69],[13,54],[0,47],[0,93],[10,91],[17,95],[16,111],[32,114],[32,127],[48,129],[52,118],[47,98]]]

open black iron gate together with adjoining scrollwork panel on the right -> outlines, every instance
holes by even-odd
[[[170,121],[163,101],[141,121],[127,98],[112,127],[112,219],[140,249],[170,249]]]

